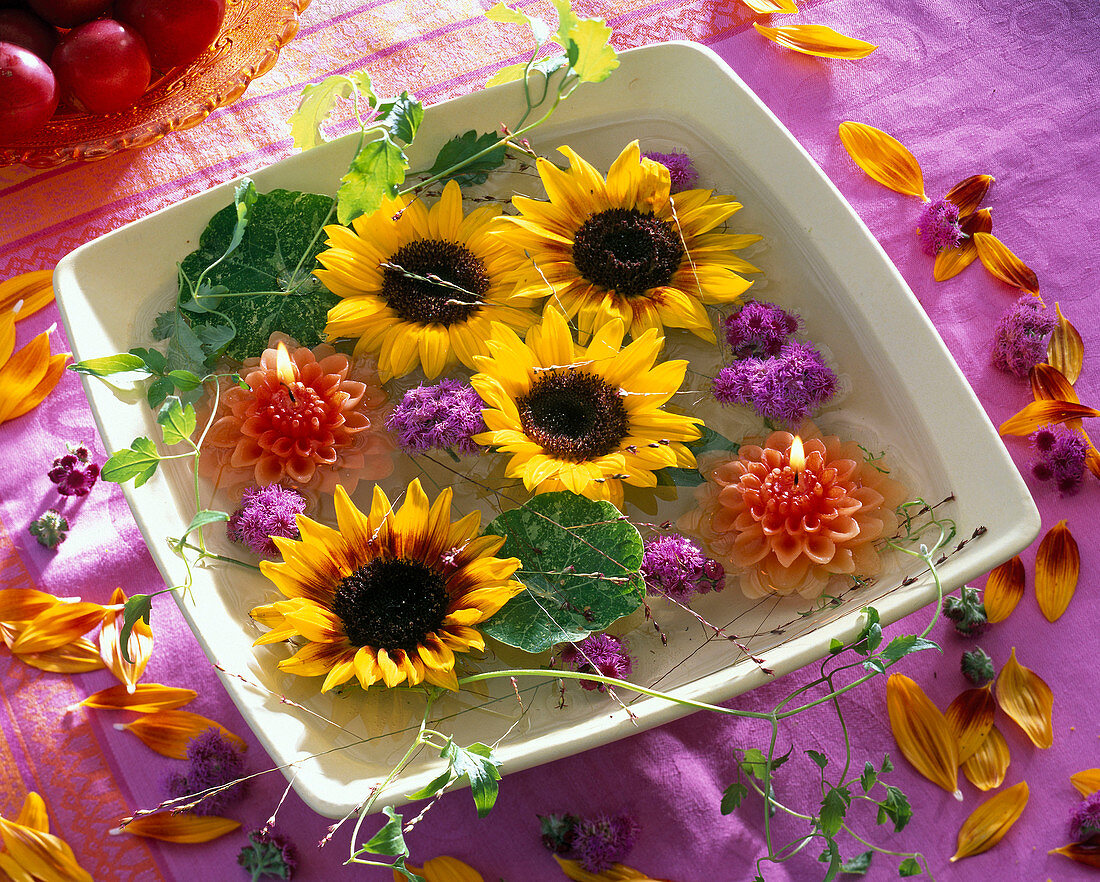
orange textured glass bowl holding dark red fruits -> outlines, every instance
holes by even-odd
[[[198,125],[217,108],[233,103],[252,80],[275,66],[309,3],[227,0],[226,20],[213,44],[190,64],[154,79],[134,107],[95,114],[63,102],[44,129],[15,140],[0,135],[0,166],[22,163],[50,168],[73,159],[102,159]]]

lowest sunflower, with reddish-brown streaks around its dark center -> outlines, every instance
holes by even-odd
[[[360,511],[337,487],[338,529],[298,516],[301,540],[275,539],[280,563],[261,570],[287,598],[251,616],[270,628],[255,641],[304,644],[278,666],[324,676],[321,692],[352,677],[458,690],[454,653],[481,651],[474,627],[522,589],[516,558],[493,556],[504,538],[480,536],[477,511],[451,522],[451,489],[435,503],[414,481],[394,510],[377,485]]]

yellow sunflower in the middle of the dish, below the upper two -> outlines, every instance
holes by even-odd
[[[513,454],[506,474],[529,490],[569,489],[615,505],[623,482],[653,487],[658,468],[694,467],[683,442],[698,438],[703,421],[661,409],[688,362],[654,365],[664,338],[652,328],[626,346],[624,335],[613,319],[579,346],[553,308],[526,342],[495,327],[492,354],[479,356],[481,373],[470,381],[488,428],[474,441]]]

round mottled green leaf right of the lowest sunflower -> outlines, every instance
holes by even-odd
[[[499,558],[519,558],[526,589],[480,626],[526,652],[583,640],[637,609],[641,536],[610,503],[568,490],[536,496],[486,528],[505,537]]]

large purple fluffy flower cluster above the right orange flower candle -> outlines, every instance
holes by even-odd
[[[714,379],[714,397],[791,426],[832,398],[836,384],[836,374],[813,343],[791,341],[774,357],[745,359],[723,367]]]

